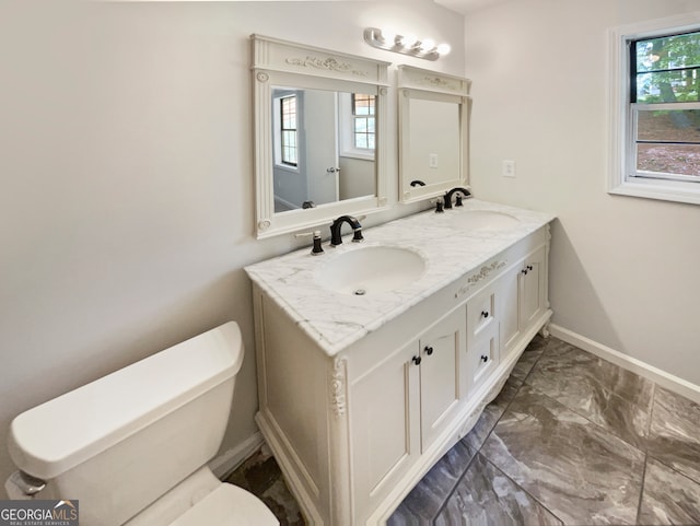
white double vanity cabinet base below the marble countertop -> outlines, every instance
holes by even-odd
[[[548,252],[545,224],[336,352],[254,279],[257,422],[310,524],[384,524],[474,426],[551,316]]]

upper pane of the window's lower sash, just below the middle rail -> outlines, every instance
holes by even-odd
[[[700,142],[700,109],[639,112],[638,140]]]

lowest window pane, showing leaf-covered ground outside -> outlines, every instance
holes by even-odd
[[[700,178],[700,144],[638,144],[637,170]]]

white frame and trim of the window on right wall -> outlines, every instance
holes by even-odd
[[[615,27],[608,32],[608,194],[700,204],[700,182],[687,177],[652,176],[637,171],[635,127],[639,107],[631,101],[632,42],[700,31],[700,11]],[[679,104],[676,109],[680,109]],[[695,103],[691,103],[695,104]],[[642,110],[646,110],[642,109]]]

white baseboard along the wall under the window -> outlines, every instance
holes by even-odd
[[[549,331],[552,336],[565,341],[567,343],[576,346],[578,348],[588,351],[598,358],[612,362],[620,367],[651,379],[668,390],[673,390],[674,393],[685,396],[696,404],[700,404],[700,386],[696,384],[691,384],[686,379],[654,367],[641,360],[622,354],[615,349],[604,346],[603,343],[598,343],[585,336],[581,336],[573,330],[565,329],[557,324],[550,324]]]

